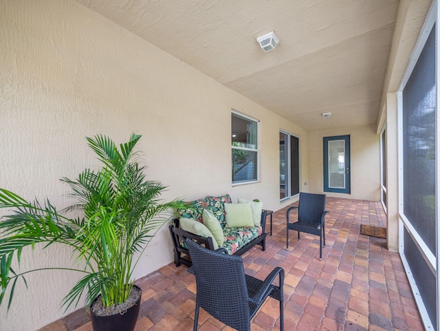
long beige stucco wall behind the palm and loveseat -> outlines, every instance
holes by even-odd
[[[0,1],[0,50],[0,187],[23,197],[67,206],[58,179],[97,165],[85,136],[124,142],[133,131],[143,135],[148,177],[169,186],[166,200],[230,193],[233,200],[259,197],[265,208],[281,208],[281,127],[300,137],[302,181],[309,181],[305,131],[76,2]],[[231,184],[231,109],[260,120],[257,184]],[[25,252],[21,270],[70,266],[69,256],[59,246]],[[135,275],[170,261],[164,227]],[[78,277],[29,275],[29,290],[17,285],[10,312],[0,308],[0,330],[38,330],[72,312],[60,303]]]

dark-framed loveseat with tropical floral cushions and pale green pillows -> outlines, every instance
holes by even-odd
[[[230,255],[243,255],[257,244],[265,250],[266,211],[262,209],[261,202],[242,199],[238,202],[232,204],[229,194],[219,197],[208,195],[189,202],[187,209],[178,211],[179,218],[175,218],[169,226],[176,266],[192,265],[186,238],[210,250],[225,248]]]

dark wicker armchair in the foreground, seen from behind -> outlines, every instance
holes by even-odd
[[[190,272],[195,274],[197,284],[194,331],[200,307],[231,328],[250,331],[250,321],[267,297],[280,301],[280,330],[283,331],[283,268],[274,268],[261,281],[245,275],[241,257],[223,254],[224,248],[208,250],[190,239],[186,239],[186,245],[192,260]],[[279,286],[272,284],[277,276]]]

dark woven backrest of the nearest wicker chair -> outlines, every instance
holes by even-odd
[[[186,239],[197,284],[197,303],[219,321],[248,330],[250,309],[243,260]]]

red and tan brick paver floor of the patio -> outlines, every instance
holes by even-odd
[[[386,226],[380,202],[327,197],[326,246],[296,232],[286,248],[285,207],[273,215],[266,250],[243,255],[245,271],[263,279],[274,266],[285,270],[285,330],[423,330],[398,253],[386,240],[360,235],[360,224]],[[267,228],[269,227],[267,218]],[[186,266],[168,264],[136,283],[142,303],[135,331],[192,330],[195,277]],[[269,298],[252,320],[252,331],[279,330],[278,301]],[[40,331],[91,331],[84,309]],[[199,331],[232,331],[201,310]]]

